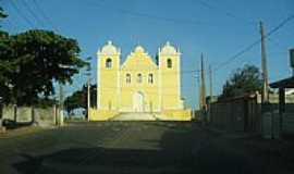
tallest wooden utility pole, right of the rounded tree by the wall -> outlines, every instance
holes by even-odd
[[[267,67],[267,54],[266,54],[266,37],[264,24],[260,21],[260,35],[261,35],[261,71],[262,71],[262,103],[269,102],[269,79],[268,79],[268,67]]]

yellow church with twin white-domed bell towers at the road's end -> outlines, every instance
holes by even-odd
[[[97,64],[97,108],[90,109],[90,121],[130,113],[142,120],[191,120],[181,98],[181,52],[170,42],[158,49],[156,59],[136,46],[122,62],[121,49],[108,41],[98,49]]]

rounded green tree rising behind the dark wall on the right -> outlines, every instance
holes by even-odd
[[[245,65],[243,69],[237,69],[225,82],[220,99],[261,91],[261,88],[262,78],[259,69],[255,65]]]

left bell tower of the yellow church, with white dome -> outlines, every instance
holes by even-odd
[[[97,108],[119,110],[121,50],[108,41],[97,52]]]

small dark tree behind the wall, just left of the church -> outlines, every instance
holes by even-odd
[[[97,89],[96,85],[90,85],[90,105],[96,105]],[[84,108],[87,109],[87,86],[84,85],[81,90],[72,94],[72,96],[66,97],[64,100],[64,108],[70,114],[74,109]]]

